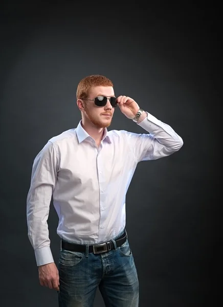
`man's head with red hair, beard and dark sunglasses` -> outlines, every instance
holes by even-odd
[[[104,98],[106,104],[98,106],[103,104],[101,101],[102,97],[107,98]],[[115,97],[111,80],[100,75],[91,75],[83,78],[77,86],[77,105],[81,111],[82,119],[85,122],[94,124],[98,128],[108,127],[114,113],[114,101],[111,97]],[[95,101],[95,98],[98,101]]]

